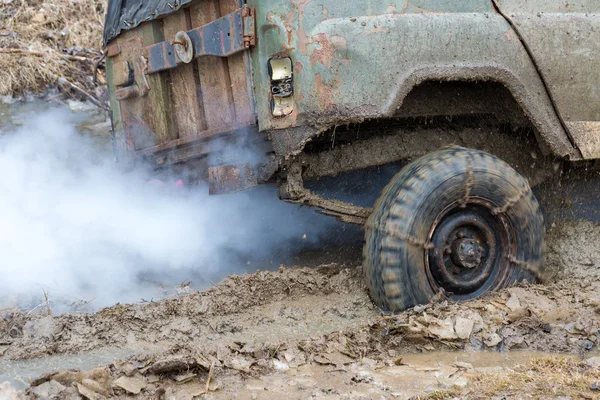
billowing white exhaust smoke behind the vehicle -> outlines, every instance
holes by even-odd
[[[80,135],[73,113],[24,116],[0,135],[0,297],[92,308],[157,295],[158,284],[198,287],[264,269],[290,241],[317,241],[333,222],[277,199],[274,188],[208,196],[204,187],[149,185]],[[174,177],[177,179],[177,177]],[[277,258],[277,257],[275,257]],[[0,298],[0,308],[1,308]]]

